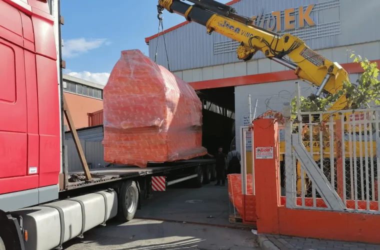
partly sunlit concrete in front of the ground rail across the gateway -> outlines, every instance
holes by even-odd
[[[257,236],[248,229],[133,219],[107,223],[63,244],[66,250],[254,250]]]

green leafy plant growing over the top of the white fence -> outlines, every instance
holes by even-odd
[[[376,62],[370,62],[368,59],[362,59],[361,56],[351,53],[350,58],[354,58],[353,62],[359,63],[364,72],[360,78],[356,80],[356,84],[349,81],[343,82],[341,90],[334,94],[328,94],[325,97],[316,97],[310,99],[308,97],[300,96],[300,110],[301,111],[326,111],[333,102],[335,102],[341,95],[345,94],[348,102],[346,108],[359,108],[368,105],[370,101],[380,105],[380,82],[377,79],[379,69]],[[291,100],[291,113],[292,118],[296,117],[296,97]]]

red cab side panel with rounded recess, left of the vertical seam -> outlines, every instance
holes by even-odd
[[[27,169],[28,113],[21,14],[0,1],[0,194],[38,186],[38,175],[28,175]]]

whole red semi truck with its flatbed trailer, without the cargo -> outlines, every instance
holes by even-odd
[[[215,178],[202,157],[68,171],[59,4],[0,0],[0,250],[60,249],[111,218],[131,220],[152,185]]]

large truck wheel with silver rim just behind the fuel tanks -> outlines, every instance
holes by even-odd
[[[138,187],[134,180],[126,180],[121,184],[117,203],[118,218],[121,221],[133,219],[138,206]]]

